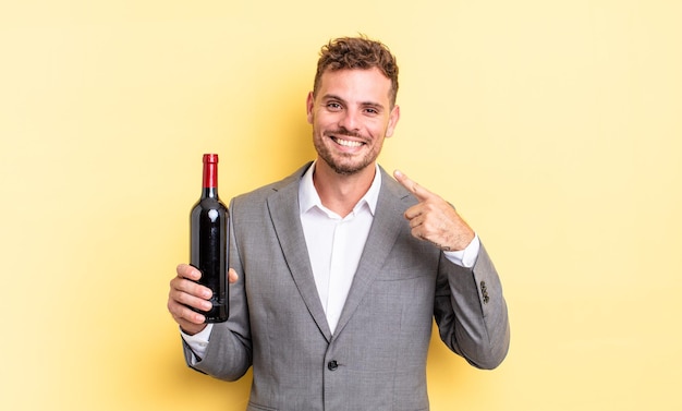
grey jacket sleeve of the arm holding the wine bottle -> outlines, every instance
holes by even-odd
[[[230,204],[230,213],[234,216],[234,202]],[[234,237],[233,220],[230,225],[229,266],[234,268],[240,278],[229,286],[229,318],[224,323],[214,324],[206,348],[206,354],[192,361],[193,352],[183,340],[185,361],[196,371],[224,380],[236,380],[252,365],[251,327],[248,306],[244,288],[244,270]],[[227,275],[227,273],[226,273]]]

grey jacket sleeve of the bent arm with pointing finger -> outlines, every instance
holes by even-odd
[[[441,255],[434,316],[442,341],[470,364],[492,370],[504,360],[510,343],[507,303],[483,243],[472,268]]]

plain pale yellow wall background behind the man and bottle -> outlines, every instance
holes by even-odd
[[[682,2],[0,5],[0,409],[243,410],[166,311],[202,154],[220,193],[313,158],[319,47],[395,52],[380,158],[456,204],[501,273],[507,361],[434,340],[431,408],[682,409]]]

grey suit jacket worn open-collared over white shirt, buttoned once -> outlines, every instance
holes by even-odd
[[[473,269],[412,237],[416,200],[383,170],[374,222],[341,318],[327,325],[289,178],[230,205],[230,319],[194,367],[234,380],[253,365],[248,410],[428,410],[433,318],[454,352],[500,364],[509,323],[499,277],[482,246]],[[185,356],[190,356],[185,346]]]

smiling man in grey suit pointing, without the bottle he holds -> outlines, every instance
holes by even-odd
[[[168,310],[190,366],[234,380],[247,410],[428,410],[433,318],[474,366],[509,348],[499,277],[444,200],[377,162],[400,118],[382,44],[322,47],[307,119],[317,159],[230,204],[230,318],[206,325],[200,273],[178,266]]]

